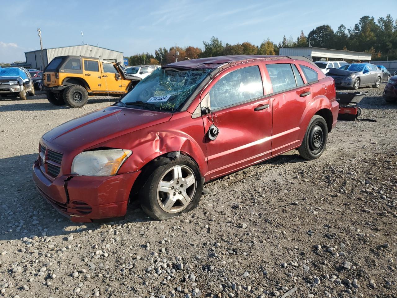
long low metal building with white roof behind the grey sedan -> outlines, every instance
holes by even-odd
[[[353,52],[345,50],[334,50],[330,48],[280,48],[280,55],[283,56],[305,56],[318,60],[348,60],[361,62],[370,62],[371,53]]]

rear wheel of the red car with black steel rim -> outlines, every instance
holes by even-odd
[[[304,134],[302,145],[298,148],[299,154],[308,161],[318,159],[326,148],[327,139],[327,123],[321,116],[314,115]]]

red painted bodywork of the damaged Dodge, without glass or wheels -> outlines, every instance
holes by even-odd
[[[305,85],[272,94],[266,64],[295,64]],[[308,84],[299,65],[318,73],[318,81]],[[223,56],[170,64],[179,68],[221,68],[189,106],[182,111],[153,112],[108,106],[66,122],[43,135],[39,159],[33,164],[33,180],[40,193],[62,214],[76,222],[122,217],[127,210],[131,188],[142,168],[150,161],[180,151],[196,161],[206,182],[235,172],[270,157],[299,147],[314,114],[326,118],[328,130],[335,126],[339,104],[335,84],[316,66],[304,60],[282,56]],[[192,117],[211,87],[227,73],[247,66],[259,66],[264,97]],[[301,97],[310,91],[310,95]],[[268,104],[269,108],[254,111]],[[212,124],[220,134],[214,141],[206,137]],[[115,176],[71,175],[73,158],[82,151],[98,148],[130,149],[133,154]],[[42,157],[62,153],[60,164],[43,163]],[[50,164],[50,165],[48,165]],[[48,167],[60,166],[54,177]]]

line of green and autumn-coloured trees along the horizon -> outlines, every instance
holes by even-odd
[[[372,60],[397,60],[397,20],[394,20],[390,14],[376,21],[374,17],[365,15],[351,29],[340,25],[337,31],[333,31],[330,25],[321,25],[310,31],[307,36],[301,31],[296,39],[284,35],[283,40],[278,44],[268,38],[260,45],[253,45],[247,41],[231,45],[222,43],[213,36],[210,41],[203,41],[202,48],[162,47],[155,50],[154,54],[146,52],[126,58],[129,60],[129,65],[166,65],[175,62],[175,56],[180,61],[222,55],[278,55],[279,48],[306,47],[309,39],[310,46],[318,48],[369,52],[372,53]]]

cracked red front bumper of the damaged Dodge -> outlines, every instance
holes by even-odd
[[[62,215],[73,222],[123,217],[131,188],[141,171],[116,176],[66,176],[50,180],[33,164],[33,181],[40,194]]]

